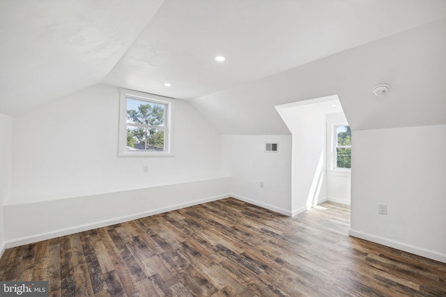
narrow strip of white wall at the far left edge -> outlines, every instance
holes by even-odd
[[[11,141],[13,118],[0,113],[0,257],[5,248],[3,202],[11,193]]]

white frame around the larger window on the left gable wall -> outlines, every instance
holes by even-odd
[[[174,99],[142,93],[135,90],[119,89],[119,137],[118,156],[173,156]],[[164,150],[127,150],[127,98],[142,100],[155,104],[165,104],[164,109]]]

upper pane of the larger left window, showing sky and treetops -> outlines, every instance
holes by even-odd
[[[127,98],[127,122],[152,126],[164,125],[166,104]]]

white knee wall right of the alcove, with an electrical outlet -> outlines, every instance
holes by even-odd
[[[353,131],[352,139],[350,234],[446,262],[446,125]]]

